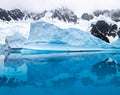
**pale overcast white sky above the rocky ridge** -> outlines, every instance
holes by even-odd
[[[56,7],[68,7],[76,12],[95,9],[120,8],[120,0],[0,0],[1,8],[22,8],[31,11],[43,11]]]

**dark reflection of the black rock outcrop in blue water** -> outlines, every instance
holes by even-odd
[[[113,75],[120,72],[120,64],[112,58],[107,58],[104,61],[93,65],[92,72],[94,72],[99,78],[104,78],[107,75]]]

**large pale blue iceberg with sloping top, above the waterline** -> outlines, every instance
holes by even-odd
[[[23,48],[37,50],[111,49],[112,46],[88,32],[75,28],[62,29],[39,21],[31,24],[28,41]]]

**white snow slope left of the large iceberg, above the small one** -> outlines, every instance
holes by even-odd
[[[11,36],[17,33],[27,39],[29,36],[29,31],[30,21],[0,21],[0,44],[5,44],[5,39],[7,36]]]

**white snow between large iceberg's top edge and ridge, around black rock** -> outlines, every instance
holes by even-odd
[[[48,22],[48,23],[51,23],[51,24],[53,24],[59,28],[62,28],[62,29],[76,28],[76,29],[83,30],[85,32],[90,32],[90,30],[92,28],[91,24],[95,24],[99,20],[104,20],[108,24],[116,24],[118,27],[120,27],[120,22],[115,22],[110,17],[104,16],[104,15],[100,15],[99,17],[94,17],[90,21],[83,20],[83,19],[79,18],[79,20],[76,24],[60,21],[57,18],[52,19],[50,13],[47,13],[45,17],[41,18],[41,20]],[[109,38],[110,43],[113,43],[118,39],[118,36],[116,36],[115,38],[112,36],[109,36],[108,38]]]

